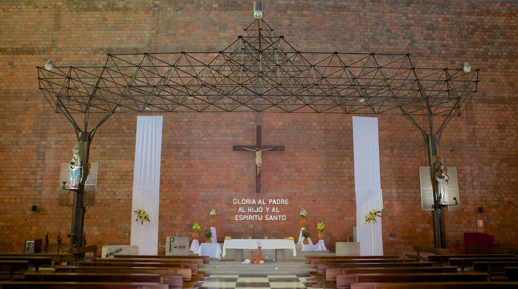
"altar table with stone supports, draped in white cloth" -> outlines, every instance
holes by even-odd
[[[222,256],[226,255],[227,249],[235,249],[236,261],[243,261],[243,249],[257,249],[257,243],[261,244],[262,250],[275,249],[275,258],[278,262],[284,261],[284,249],[291,249],[293,256],[297,256],[295,241],[287,239],[232,239],[223,243]]]

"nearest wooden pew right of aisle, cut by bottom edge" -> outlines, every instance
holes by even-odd
[[[351,289],[516,289],[518,282],[397,282],[352,283]]]

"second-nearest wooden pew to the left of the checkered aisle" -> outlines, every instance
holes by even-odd
[[[169,289],[181,289],[181,275],[166,275],[154,273],[25,273],[25,281],[39,282],[143,282],[167,283]]]

